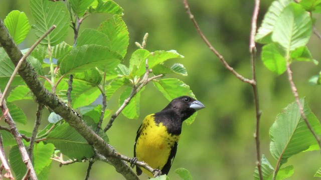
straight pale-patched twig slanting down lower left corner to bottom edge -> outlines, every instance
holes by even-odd
[[[1,91],[0,91],[0,96],[2,96]],[[3,114],[5,115],[5,112],[7,110],[7,105],[6,105],[5,101],[3,102],[3,105],[1,108],[2,108]],[[23,162],[27,165],[27,169],[30,169],[30,174],[29,174],[30,178],[31,179],[38,179],[36,171],[34,169],[34,166],[29,158],[27,149],[26,149],[24,142],[22,140],[22,136],[17,129],[15,121],[12,119],[10,112],[7,112],[7,114],[5,115],[5,121],[9,124],[10,131],[16,138],[17,145],[19,147],[19,151],[21,153],[21,157],[22,157]]]

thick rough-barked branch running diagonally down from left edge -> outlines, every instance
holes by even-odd
[[[17,64],[23,56],[17,44],[9,35],[2,19],[0,19],[0,44],[8,53],[14,64]],[[103,154],[126,179],[139,179],[128,164],[112,156],[115,149],[97,135],[73,110],[68,107],[60,98],[46,89],[32,66],[24,61],[18,70],[20,76],[24,79],[30,90],[36,97],[37,102],[50,107],[55,113],[63,117],[78,133],[80,133],[88,142],[92,144],[101,154]]]

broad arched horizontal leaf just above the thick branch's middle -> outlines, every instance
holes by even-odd
[[[121,56],[108,47],[89,44],[73,48],[60,63],[60,73],[68,74],[89,70],[96,66],[105,69],[115,67]]]

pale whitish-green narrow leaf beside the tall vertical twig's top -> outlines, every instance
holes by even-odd
[[[259,43],[270,43],[271,32],[274,29],[275,21],[281,14],[284,7],[286,7],[292,0],[275,0],[264,15],[261,26],[259,27],[255,41]]]

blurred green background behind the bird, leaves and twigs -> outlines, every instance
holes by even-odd
[[[142,41],[145,32],[149,33],[146,48],[149,51],[175,49],[184,55],[183,59],[173,59],[168,63],[180,62],[188,70],[188,76],[167,75],[182,79],[191,86],[198,100],[206,108],[199,111],[195,122],[183,124],[183,131],[172,169],[171,179],[180,179],[174,172],[176,168],[190,170],[194,179],[253,179],[256,165],[256,148],[253,134],[255,132],[255,109],[252,87],[237,79],[225,69],[221,61],[210,51],[200,38],[192,21],[189,19],[182,0],[115,0],[124,8],[123,19],[128,26],[129,47],[124,64],[128,64],[131,53],[137,49],[134,42]],[[261,0],[258,25],[272,0]],[[25,11],[31,23],[34,23],[28,0],[0,0],[0,18],[4,19],[13,9]],[[204,34],[214,47],[224,56],[228,63],[240,74],[251,78],[249,54],[249,33],[254,0],[189,0],[192,13]],[[313,15],[314,16],[314,15]],[[110,17],[108,14],[93,14],[85,19],[84,28],[97,28],[99,23]],[[315,26],[321,29],[320,16],[316,17]],[[66,39],[73,44],[72,30]],[[31,29],[27,39],[20,47],[30,47],[35,41]],[[321,40],[314,34],[308,47],[317,60],[321,57],[319,50]],[[288,103],[294,101],[286,74],[275,75],[267,70],[260,60],[261,45],[257,44],[257,80],[262,110],[260,138],[261,153],[265,154],[271,164],[276,160],[269,152],[269,128],[275,116]],[[320,71],[320,65],[311,62],[293,62],[293,78],[300,97],[306,96],[312,111],[321,118],[321,86],[311,85],[308,79]],[[118,108],[118,94],[111,99],[108,108]],[[118,152],[132,156],[136,130],[143,117],[164,108],[169,101],[148,84],[141,94],[141,111],[139,119],[127,119],[120,115],[107,131],[110,144]],[[19,101],[27,114],[27,126],[19,128],[28,130],[34,124],[36,103]],[[48,112],[42,117],[42,126],[47,123]],[[105,122],[106,124],[106,122]],[[294,175],[290,179],[316,179],[312,177],[321,167],[320,152],[305,152],[289,158],[286,165],[294,165]],[[49,179],[83,179],[88,162],[74,163],[59,167],[53,161]],[[96,162],[90,179],[123,179],[107,163]],[[142,176],[146,179],[146,176]]]

